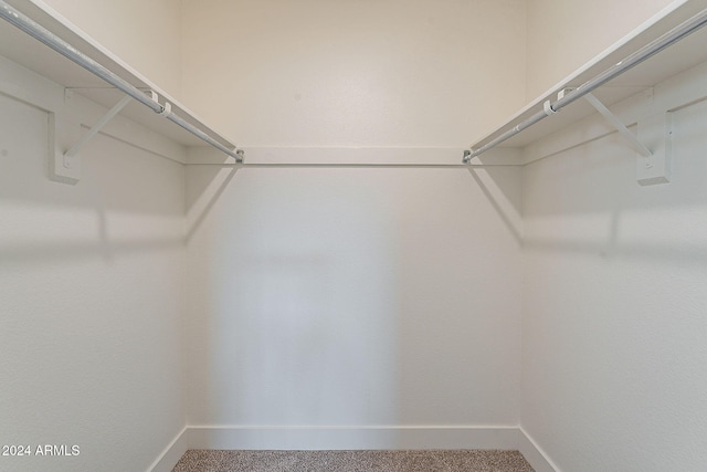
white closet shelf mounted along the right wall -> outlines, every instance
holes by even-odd
[[[547,101],[555,102],[558,93],[566,88],[577,88],[604,71],[618,64],[640,48],[651,43],[684,21],[700,13],[707,8],[705,0],[685,0],[674,2],[671,7],[648,20],[611,48],[595,56],[592,61],[570,74],[560,83],[530,102],[519,112],[494,127],[493,130],[478,137],[472,149],[478,149],[503,135],[506,130],[530,118],[544,109]],[[604,105],[612,105],[632,95],[652,88],[654,85],[707,61],[707,28],[676,42],[667,50],[657,53],[645,62],[627,70],[608,84],[593,92]],[[559,132],[578,120],[597,113],[597,109],[584,99],[577,101],[557,114],[536,123],[517,135],[500,143],[498,147],[524,148],[540,138]]]

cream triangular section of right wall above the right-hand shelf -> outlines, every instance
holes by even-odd
[[[527,96],[546,92],[634,28],[684,0],[528,0]]]

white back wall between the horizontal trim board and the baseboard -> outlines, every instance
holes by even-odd
[[[189,423],[517,424],[519,243],[476,179],[520,172],[493,177],[189,166]]]

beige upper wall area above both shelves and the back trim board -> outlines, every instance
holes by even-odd
[[[43,3],[240,145],[457,146],[684,1]]]

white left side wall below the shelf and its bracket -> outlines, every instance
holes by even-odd
[[[0,86],[0,443],[80,448],[0,469],[146,470],[184,424],[183,166],[101,134],[51,181],[40,108],[105,109],[4,60]]]

